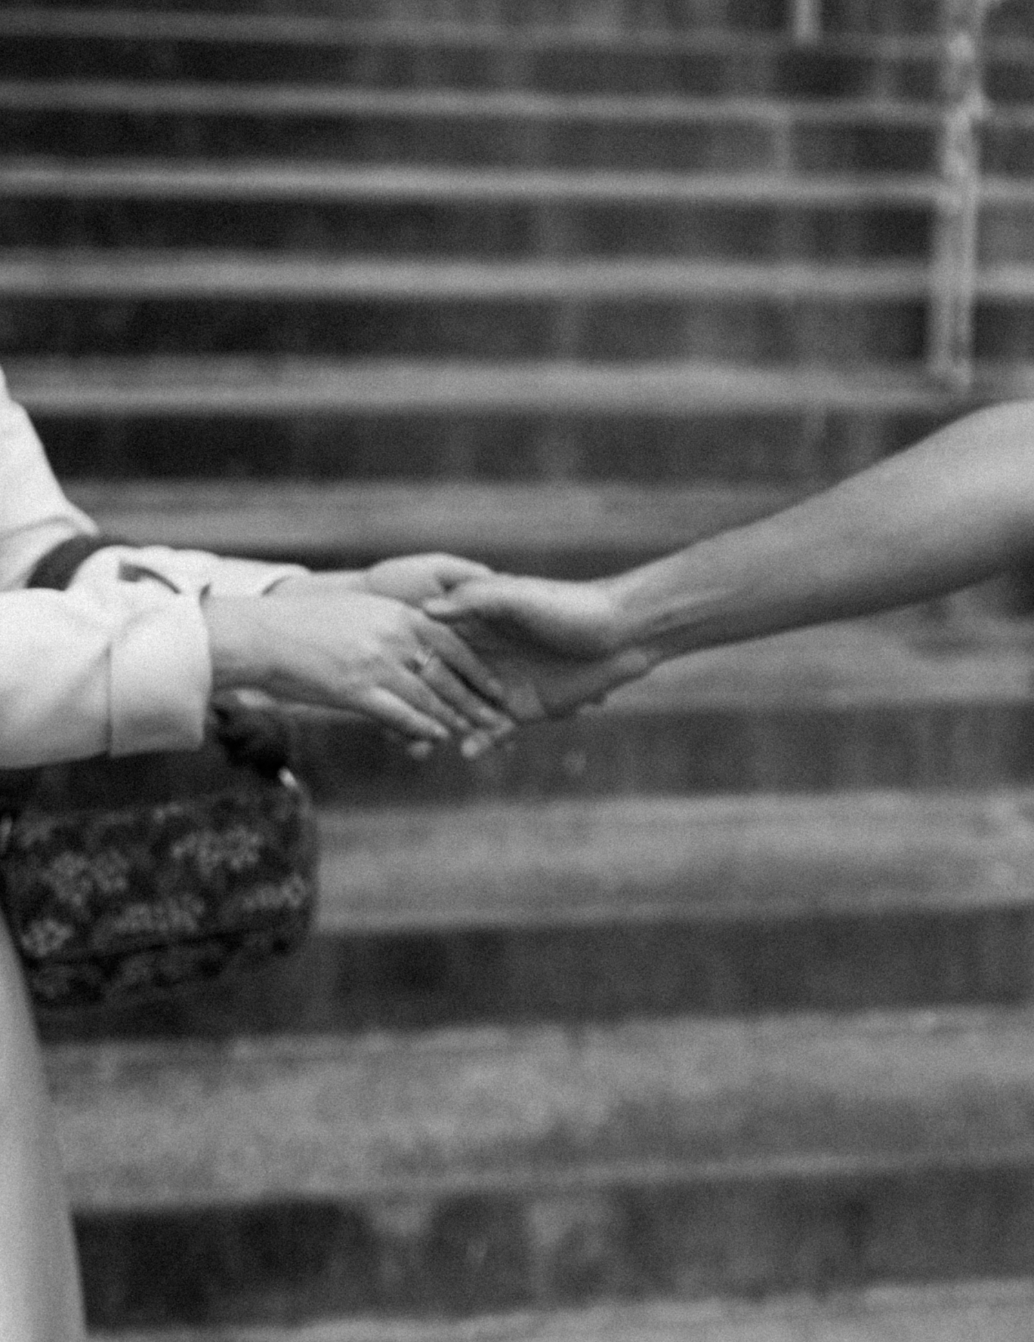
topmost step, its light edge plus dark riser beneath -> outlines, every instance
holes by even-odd
[[[388,23],[301,17],[99,15],[13,8],[0,19],[0,74],[146,78],[228,85],[348,82],[375,89],[526,89],[567,94],[937,97],[936,36],[685,32],[663,27]],[[1027,34],[1027,38],[1030,35]],[[1022,40],[1022,39],[1021,39]],[[991,47],[1021,101],[1023,48]]]

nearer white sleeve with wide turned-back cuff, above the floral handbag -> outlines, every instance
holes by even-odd
[[[211,694],[197,600],[150,582],[0,593],[0,766],[200,745]]]

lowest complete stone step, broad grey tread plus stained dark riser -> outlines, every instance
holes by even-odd
[[[1034,1271],[1030,1009],[48,1053],[98,1325]]]

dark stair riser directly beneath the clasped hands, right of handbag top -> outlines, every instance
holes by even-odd
[[[1034,780],[1034,706],[614,709],[526,729],[475,764],[444,752],[416,764],[375,731],[314,719],[298,765],[321,800],[346,805],[982,788]]]

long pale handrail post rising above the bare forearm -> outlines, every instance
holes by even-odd
[[[951,391],[974,384],[974,302],[980,217],[980,123],[986,111],[980,39],[996,0],[944,0],[944,117],[931,258],[928,366]]]

